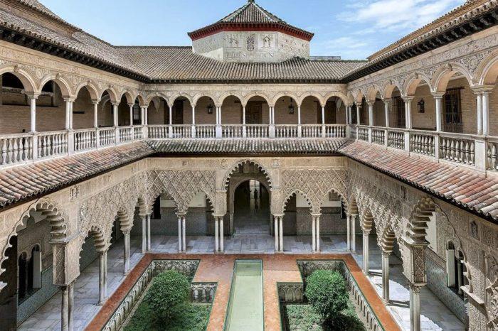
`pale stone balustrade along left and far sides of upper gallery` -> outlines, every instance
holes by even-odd
[[[142,140],[346,139],[345,124],[148,125],[0,136],[0,168]]]

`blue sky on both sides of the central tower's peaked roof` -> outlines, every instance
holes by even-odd
[[[191,45],[187,32],[246,0],[40,0],[65,21],[112,45]],[[256,0],[314,33],[311,55],[365,59],[465,0]]]

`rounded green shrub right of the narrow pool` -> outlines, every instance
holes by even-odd
[[[344,277],[337,271],[317,270],[306,281],[304,295],[309,304],[327,324],[333,325],[341,312],[348,308],[349,296]]]

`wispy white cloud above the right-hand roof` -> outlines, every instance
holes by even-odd
[[[424,26],[463,0],[373,0],[349,5],[339,13],[341,21],[368,26],[368,31],[400,31]]]

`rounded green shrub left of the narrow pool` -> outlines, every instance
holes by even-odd
[[[144,300],[156,317],[167,322],[188,304],[189,279],[176,271],[166,271],[154,278]]]

